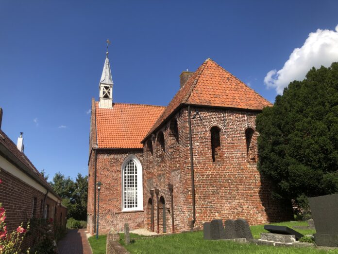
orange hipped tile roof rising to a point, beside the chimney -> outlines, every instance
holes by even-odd
[[[207,59],[176,93],[148,137],[181,104],[261,110],[272,104],[220,65]]]

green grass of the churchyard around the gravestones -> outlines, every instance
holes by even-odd
[[[288,226],[307,226],[306,221],[297,222],[280,222],[271,223],[271,225]],[[260,233],[267,233],[264,230],[264,225],[251,226],[250,230],[254,238],[259,238]],[[301,230],[297,229],[303,235],[312,235],[315,230]],[[139,236],[136,234],[130,234],[131,244],[124,245],[124,234],[120,233],[120,244],[122,244],[130,253],[137,254],[169,254],[169,253],[278,253],[278,254],[324,254],[324,253],[336,253],[338,249],[331,251],[324,251],[313,248],[295,248],[295,247],[274,247],[255,244],[244,244],[233,241],[224,240],[204,240],[203,231],[188,232],[174,235],[163,235],[158,237],[152,236]],[[96,240],[95,236],[89,238],[90,245],[93,250],[93,254],[105,254],[106,248],[106,236],[99,236],[99,240]]]

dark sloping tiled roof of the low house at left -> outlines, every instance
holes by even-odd
[[[45,178],[40,174],[40,172],[35,168],[33,163],[28,159],[28,157],[17,149],[17,145],[0,129],[0,144],[2,144],[11,154],[13,154],[21,163],[25,164],[31,172],[34,173],[34,176],[41,180],[45,187],[49,188],[52,191],[51,185],[45,180]],[[52,191],[54,195],[57,194]],[[58,196],[57,196],[58,197]]]

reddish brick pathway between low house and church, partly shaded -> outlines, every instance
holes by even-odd
[[[57,244],[59,254],[92,254],[85,229],[68,229],[67,235]]]

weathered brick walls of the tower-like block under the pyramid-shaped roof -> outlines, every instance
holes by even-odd
[[[193,157],[195,172],[195,227],[214,218],[245,218],[251,225],[268,221],[292,218],[290,206],[271,200],[270,182],[262,179],[257,171],[257,136],[254,132],[251,144],[247,145],[246,129],[255,129],[255,112],[198,109],[199,115],[193,119],[196,109],[191,112]],[[153,153],[147,144],[144,147],[144,197],[146,210],[145,226],[150,228],[151,210],[148,206],[150,190],[158,188],[159,197],[166,202],[167,232],[171,232],[171,208],[168,183],[173,184],[175,231],[190,229],[192,219],[191,171],[187,110],[182,109],[173,119],[177,119],[179,144],[173,137],[172,121],[157,131],[150,139]],[[171,120],[173,120],[171,119]],[[212,159],[212,127],[220,130],[220,148],[216,161]],[[165,152],[157,142],[159,132],[164,133]],[[154,195],[154,225],[157,231],[157,200]],[[162,232],[162,204],[159,203],[159,231]]]

